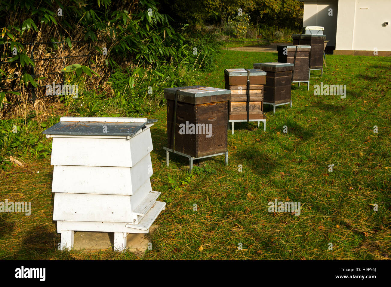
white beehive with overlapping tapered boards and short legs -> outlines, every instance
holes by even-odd
[[[43,132],[53,138],[53,220],[61,250],[74,231],[114,232],[114,250],[129,233],[148,233],[165,202],[152,191],[147,118],[62,117]]]

